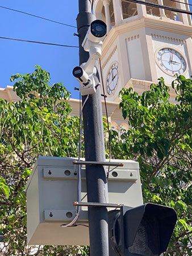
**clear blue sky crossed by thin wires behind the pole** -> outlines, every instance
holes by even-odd
[[[78,0],[1,0],[0,5],[76,26]],[[78,38],[73,36],[76,28],[2,8],[0,19],[0,36],[78,46]],[[40,65],[51,73],[52,83],[62,81],[72,97],[78,98],[79,93],[73,89],[78,82],[72,75],[73,68],[78,65],[78,48],[0,39],[0,49],[0,88],[13,85],[11,75],[31,73],[35,65]]]

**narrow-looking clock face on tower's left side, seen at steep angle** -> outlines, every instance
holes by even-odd
[[[114,93],[116,86],[118,85],[119,71],[118,65],[113,64],[108,72],[107,77],[107,93],[111,95]]]

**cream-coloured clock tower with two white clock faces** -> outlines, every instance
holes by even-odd
[[[118,102],[123,87],[141,94],[159,77],[171,85],[176,73],[192,75],[191,16],[174,10],[189,11],[187,0],[150,2],[172,10],[127,0],[94,1],[96,18],[107,24],[101,65],[108,101]]]

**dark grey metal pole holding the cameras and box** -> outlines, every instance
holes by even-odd
[[[90,23],[95,19],[91,13],[89,0],[79,1],[77,30],[80,46],[80,65],[89,59],[81,44]],[[86,96],[82,97],[84,102]],[[87,161],[105,161],[105,143],[103,134],[101,89],[89,95],[84,110],[85,159]],[[87,200],[93,203],[108,203],[106,171],[103,166],[86,166]],[[108,256],[108,224],[105,207],[89,207],[89,238],[91,256]]]

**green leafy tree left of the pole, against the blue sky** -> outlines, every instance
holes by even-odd
[[[80,246],[27,246],[24,187],[38,156],[78,155],[78,117],[70,117],[70,93],[51,84],[39,66],[30,74],[11,76],[21,100],[0,99],[0,230],[3,255],[86,255]],[[36,251],[36,252],[35,252]]]

